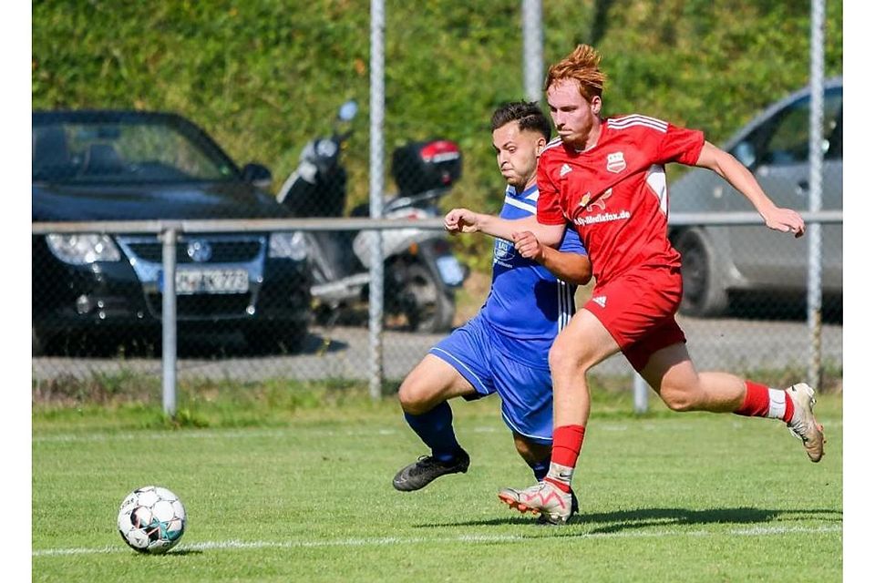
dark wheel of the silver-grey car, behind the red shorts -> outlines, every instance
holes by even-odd
[[[717,271],[715,253],[701,230],[685,230],[674,244],[681,254],[684,297],[680,312],[690,316],[717,316],[726,312],[729,297]]]

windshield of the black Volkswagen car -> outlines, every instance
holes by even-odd
[[[35,120],[32,179],[137,184],[237,178],[232,161],[209,138],[172,120]]]

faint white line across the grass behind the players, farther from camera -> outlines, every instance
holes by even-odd
[[[841,426],[841,420],[819,420],[821,423],[827,425],[827,431],[833,430],[838,431]],[[737,426],[742,426],[739,422],[736,422]],[[690,431],[698,431],[698,427],[695,424],[687,424],[684,423],[682,419],[677,421],[664,421],[659,424],[654,424],[653,422],[642,422],[642,423],[634,423],[634,424],[617,424],[617,423],[606,423],[606,424],[598,424],[597,427],[593,424],[593,429],[597,429],[598,431],[628,431],[629,429],[638,428],[643,429],[644,431],[652,431],[655,429],[664,429],[666,426],[672,427],[678,431],[683,431],[688,429]],[[495,433],[497,431],[503,430],[503,425],[479,425],[475,427],[468,428],[467,431],[472,431],[474,433]],[[353,429],[350,430],[340,430],[335,431],[332,429],[324,429],[324,428],[314,428],[314,429],[306,429],[301,427],[289,427],[288,429],[228,429],[228,430],[210,430],[210,429],[196,429],[190,431],[142,431],[142,432],[120,432],[120,433],[95,433],[95,434],[60,434],[60,435],[34,435],[31,438],[31,442],[34,444],[47,444],[47,443],[86,443],[86,442],[107,442],[107,441],[144,441],[148,439],[152,440],[162,440],[162,439],[238,439],[240,437],[251,437],[251,438],[261,438],[261,437],[286,437],[288,435],[321,435],[321,436],[333,436],[333,435],[344,435],[344,436],[365,436],[372,437],[376,435],[397,435],[402,432],[408,432],[406,426],[402,426],[399,424],[397,427],[384,427],[382,429],[376,430],[368,430],[368,431],[356,431]]]

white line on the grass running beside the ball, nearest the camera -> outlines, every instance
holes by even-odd
[[[826,527],[752,527],[736,528],[726,532],[695,530],[691,532],[655,531],[655,532],[622,532],[622,533],[582,533],[576,537],[562,537],[568,541],[574,538],[602,539],[602,538],[663,538],[663,537],[767,537],[774,535],[796,534],[829,534],[841,532],[841,527],[830,525]],[[318,548],[318,547],[396,547],[399,545],[419,545],[435,543],[531,543],[540,538],[552,539],[552,537],[524,537],[520,535],[460,535],[458,537],[375,537],[375,538],[339,538],[336,540],[291,540],[285,542],[225,540],[207,541],[191,545],[180,545],[172,552],[198,551],[198,550],[235,550],[235,549],[260,549],[260,548]],[[128,547],[118,544],[115,547],[100,548],[42,548],[31,552],[32,557],[66,557],[69,555],[97,555],[108,553],[130,553]]]

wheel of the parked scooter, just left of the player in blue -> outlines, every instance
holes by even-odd
[[[452,328],[456,300],[426,266],[413,263],[407,267],[402,294],[403,311],[411,331],[448,332]]]

